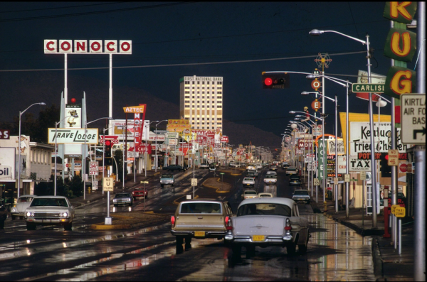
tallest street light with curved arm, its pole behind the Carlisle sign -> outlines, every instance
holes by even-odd
[[[370,50],[369,50],[369,35],[367,33],[367,40],[361,40],[359,38],[354,38],[352,36],[347,36],[344,33],[340,33],[338,31],[320,31],[317,29],[313,29],[312,31],[309,32],[310,35],[312,36],[320,36],[320,34],[322,33],[337,33],[340,36],[344,36],[347,38],[350,38],[352,40],[356,40],[359,43],[362,43],[363,45],[367,45],[367,66],[368,66],[368,83],[371,83],[371,54],[370,54]],[[348,87],[347,87],[348,89]],[[347,119],[348,121],[348,119]],[[373,114],[373,109],[372,109],[372,92],[369,92],[369,128],[371,131],[371,163],[372,163],[372,170],[371,170],[371,175],[372,175],[372,200],[373,200],[373,205],[372,205],[372,227],[373,228],[377,228],[377,223],[376,223],[376,163],[375,163],[375,148],[374,148],[374,144],[375,144],[375,140],[374,140],[374,114]]]

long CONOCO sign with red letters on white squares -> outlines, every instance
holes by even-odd
[[[103,48],[102,48],[103,47]],[[132,40],[68,40],[45,39],[44,53],[132,54]]]

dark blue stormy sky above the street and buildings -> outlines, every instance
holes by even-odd
[[[317,28],[363,40],[369,33],[372,72],[386,75],[390,60],[383,49],[390,23],[383,12],[384,2],[1,2],[0,69],[62,68],[63,55],[45,55],[43,39],[132,40],[132,55],[114,55],[113,66],[144,67],[113,70],[113,92],[115,87],[137,87],[179,104],[180,77],[222,76],[223,118],[280,136],[290,110],[310,107],[312,98],[300,95],[312,91],[310,81],[305,75],[290,75],[290,88],[263,90],[261,72],[312,72],[317,53],[329,53],[327,74],[356,82],[357,71],[367,70],[366,53],[334,54],[366,47],[334,33],[308,34]],[[70,68],[108,66],[107,55],[68,58]],[[74,70],[69,75],[73,73],[108,82],[107,70]],[[333,82],[325,86],[327,96],[338,94],[345,111],[345,88]],[[25,97],[16,93],[17,99]],[[46,102],[59,104],[60,95]],[[149,102],[135,101],[139,103],[149,109]],[[389,108],[382,108],[381,114],[389,114]],[[333,103],[327,102],[326,109],[333,114]],[[366,101],[350,98],[351,112],[367,109]],[[327,129],[332,131],[333,124],[332,116]]]

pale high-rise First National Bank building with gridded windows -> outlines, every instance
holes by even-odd
[[[179,114],[191,129],[222,130],[223,77],[182,77]]]

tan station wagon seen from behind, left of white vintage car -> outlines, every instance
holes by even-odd
[[[176,245],[189,244],[192,238],[223,239],[226,223],[233,217],[231,205],[217,200],[184,200],[171,217],[171,234]]]

